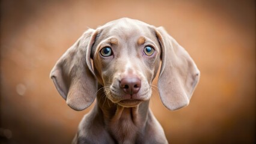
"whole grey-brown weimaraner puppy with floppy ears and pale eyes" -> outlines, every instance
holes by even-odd
[[[84,110],[97,97],[73,143],[168,143],[148,107],[160,64],[162,103],[169,110],[187,106],[200,71],[162,27],[123,18],[88,29],[50,73],[72,109]]]

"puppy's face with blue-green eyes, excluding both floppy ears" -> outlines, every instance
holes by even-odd
[[[161,53],[153,27],[129,21],[114,21],[99,29],[91,50],[94,73],[106,97],[124,107],[149,100]]]

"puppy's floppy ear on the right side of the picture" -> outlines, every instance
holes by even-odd
[[[200,71],[193,59],[165,29],[157,28],[162,49],[162,67],[158,79],[159,95],[169,110],[187,106],[197,86]]]

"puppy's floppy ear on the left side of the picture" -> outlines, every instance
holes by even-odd
[[[97,80],[90,62],[96,33],[94,29],[88,29],[59,58],[50,72],[59,94],[75,110],[86,109],[96,98]]]

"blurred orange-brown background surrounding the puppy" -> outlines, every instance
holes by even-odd
[[[255,143],[255,1],[1,1],[1,142],[70,143],[76,112],[49,73],[87,30],[120,17],[164,26],[201,79],[190,105],[151,109],[169,143]],[[156,83],[156,82],[155,82]]]

